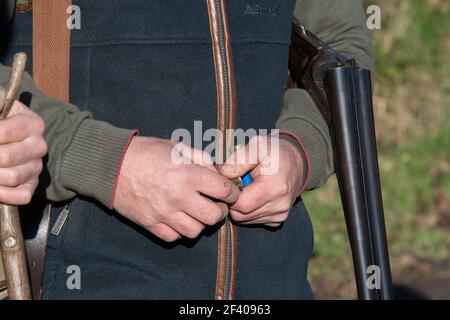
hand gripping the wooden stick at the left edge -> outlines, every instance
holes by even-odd
[[[0,90],[0,105],[4,91]],[[19,101],[0,121],[0,203],[23,205],[31,201],[47,153],[44,121]]]

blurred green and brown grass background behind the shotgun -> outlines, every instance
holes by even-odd
[[[374,112],[394,282],[450,279],[450,2],[371,4],[382,18],[372,31]],[[303,199],[315,230],[309,273],[317,298],[354,298],[335,178]]]

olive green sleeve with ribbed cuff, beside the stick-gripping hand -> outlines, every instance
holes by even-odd
[[[8,76],[9,68],[0,64],[0,86],[6,86]],[[89,113],[45,96],[29,74],[20,96],[46,123],[49,152],[37,193],[51,201],[80,194],[111,207],[117,168],[134,131],[93,120]]]

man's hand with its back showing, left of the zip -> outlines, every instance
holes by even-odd
[[[174,161],[174,150],[191,163]],[[228,214],[226,204],[238,196],[238,188],[216,171],[203,151],[169,140],[135,137],[125,154],[113,207],[172,242],[182,236],[196,238],[206,225],[221,221]]]

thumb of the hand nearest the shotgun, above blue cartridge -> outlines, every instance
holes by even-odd
[[[237,148],[219,167],[219,172],[228,179],[235,179],[252,171],[264,160],[264,153],[260,152],[262,144],[262,139],[254,137],[246,146]]]

